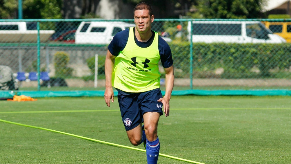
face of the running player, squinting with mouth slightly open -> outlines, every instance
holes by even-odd
[[[150,16],[148,10],[135,10],[134,23],[137,31],[145,33],[151,29],[151,24],[154,21],[154,15]]]

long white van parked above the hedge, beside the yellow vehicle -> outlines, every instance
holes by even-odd
[[[188,40],[192,25],[192,41],[203,43],[285,43],[286,40],[265,27],[260,21],[189,21]]]

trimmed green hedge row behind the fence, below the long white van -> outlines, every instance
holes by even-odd
[[[190,43],[170,44],[175,68],[181,70],[179,76],[189,77]],[[270,77],[271,70],[286,70],[291,66],[291,47],[283,44],[235,44],[235,43],[194,43],[193,75],[209,73],[223,68],[220,78]],[[259,70],[258,73],[252,71]],[[218,77],[218,78],[219,78]],[[216,77],[217,78],[217,77]]]

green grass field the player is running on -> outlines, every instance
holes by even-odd
[[[206,164],[290,164],[289,96],[172,96],[160,153]],[[134,147],[117,98],[0,101],[0,119]],[[85,111],[86,110],[86,111]],[[145,152],[0,121],[0,163],[145,164]],[[144,149],[142,145],[137,148]],[[158,163],[189,163],[160,156]]]

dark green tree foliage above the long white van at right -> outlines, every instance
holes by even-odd
[[[198,12],[205,18],[258,18],[266,0],[199,0]]]

